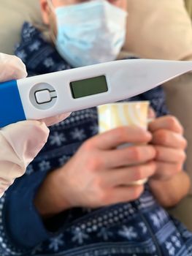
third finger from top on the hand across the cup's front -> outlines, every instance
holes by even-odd
[[[104,181],[105,187],[128,186],[133,181],[139,181],[153,176],[155,170],[155,162],[149,162],[145,165],[107,170],[102,180]]]

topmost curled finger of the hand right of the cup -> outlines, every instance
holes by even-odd
[[[155,132],[157,129],[169,129],[172,132],[183,134],[183,127],[174,116],[156,118],[150,122],[148,129],[150,132]]]

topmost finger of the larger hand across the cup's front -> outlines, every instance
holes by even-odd
[[[140,127],[118,127],[92,138],[92,146],[100,149],[116,148],[124,143],[147,143],[150,132]]]

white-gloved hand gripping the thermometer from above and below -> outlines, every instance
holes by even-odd
[[[0,83],[26,75],[26,67],[18,57],[0,53]],[[20,121],[0,130],[0,196],[15,178],[25,173],[27,165],[45,145],[49,135],[46,124],[55,124],[66,116],[69,114],[45,118],[45,122]]]

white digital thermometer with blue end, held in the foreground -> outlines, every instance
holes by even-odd
[[[116,102],[192,70],[192,61],[129,59],[0,83],[0,127]]]

